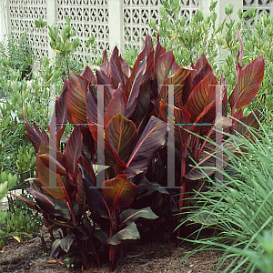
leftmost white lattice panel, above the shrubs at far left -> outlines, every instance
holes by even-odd
[[[35,27],[35,20],[43,18],[46,21],[45,0],[10,0],[9,18],[10,30],[15,37],[26,33],[28,42],[34,51],[35,59],[47,56],[46,34]]]

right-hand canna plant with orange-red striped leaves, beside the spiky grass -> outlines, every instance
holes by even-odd
[[[225,77],[221,76],[219,84],[217,83],[217,77],[204,54],[198,58],[195,66],[191,66],[191,70],[173,66],[173,76],[167,77],[161,87],[157,113],[162,120],[167,121],[167,85],[175,85],[175,105],[171,111],[174,111],[175,117],[175,145],[180,152],[180,157],[177,157],[181,166],[178,177],[179,209],[189,207],[187,197],[191,181],[215,173],[216,157],[222,153],[216,145],[217,133],[220,134],[223,147],[233,148],[235,152],[235,148],[226,141],[227,135],[223,136],[221,130],[227,134],[248,137],[248,129],[238,120],[247,126],[258,128],[255,117],[258,116],[258,111],[243,116],[242,108],[248,106],[257,95],[264,76],[265,62],[263,56],[259,56],[243,68],[241,66],[243,45],[239,33],[238,39],[241,50],[238,50],[237,84],[228,98]],[[220,96],[222,100],[219,99]],[[227,107],[227,101],[230,108]],[[231,113],[227,117],[229,112]],[[227,165],[229,159],[223,154],[223,167]]]

